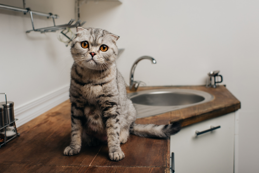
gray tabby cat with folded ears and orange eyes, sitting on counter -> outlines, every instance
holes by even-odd
[[[136,110],[115,65],[119,37],[102,29],[77,27],[76,31],[71,44],[71,143],[64,155],[78,154],[85,138],[89,146],[108,143],[110,159],[119,161],[124,158],[120,143],[130,133],[166,138],[181,129],[179,123],[135,124]]]

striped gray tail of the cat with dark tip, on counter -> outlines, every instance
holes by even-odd
[[[155,125],[155,124],[135,124],[130,127],[130,133],[143,137],[159,137],[167,138],[170,135],[176,134],[181,130],[181,124],[174,122],[168,125]]]

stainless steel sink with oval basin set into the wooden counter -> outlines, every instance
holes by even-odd
[[[138,117],[147,117],[203,104],[214,96],[193,89],[155,89],[129,93]]]

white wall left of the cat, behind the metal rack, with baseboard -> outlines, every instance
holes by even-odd
[[[1,4],[23,8],[22,0],[0,0]],[[75,18],[74,1],[26,0],[33,11],[58,14],[56,25]],[[35,28],[53,26],[52,19],[33,15]],[[30,15],[0,9],[0,92],[15,103],[17,126],[68,99],[70,47],[57,40],[56,33],[30,32]],[[4,101],[4,95],[0,95]],[[54,100],[53,100],[54,99]],[[29,111],[29,112],[28,112]]]

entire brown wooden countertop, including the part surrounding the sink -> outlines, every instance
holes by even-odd
[[[187,126],[217,117],[240,108],[240,102],[224,87],[141,87],[138,89],[186,88],[214,95],[214,100],[152,117],[139,118],[141,124],[169,124],[181,121]],[[113,162],[108,157],[107,144],[82,147],[75,156],[63,156],[70,143],[70,102],[38,116],[18,128],[20,137],[0,148],[0,172],[166,172],[169,173],[170,141],[130,135],[121,145],[125,158]]]

